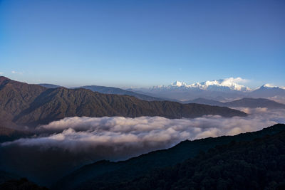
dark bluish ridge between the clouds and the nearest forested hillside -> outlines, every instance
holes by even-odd
[[[156,152],[150,152],[149,154],[143,154],[140,157],[135,157],[128,159],[123,162],[108,162],[101,161],[95,162],[94,164],[86,165],[77,171],[74,171],[70,175],[64,177],[53,187],[54,189],[124,189],[124,186],[129,186],[129,189],[136,189],[135,183],[138,183],[138,188],[143,188],[143,180],[139,180],[140,176],[145,176],[147,183],[151,183],[149,175],[155,173],[155,177],[159,178],[156,169],[164,167],[172,167],[175,164],[185,161],[195,157],[201,151],[207,151],[208,149],[214,148],[217,145],[228,144],[230,142],[255,142],[254,139],[260,137],[266,137],[266,135],[274,135],[279,132],[285,131],[285,125],[274,125],[268,127],[264,130],[258,132],[247,132],[245,134],[238,134],[235,136],[226,136],[226,137],[217,137],[217,138],[207,138],[207,139],[198,139],[195,141],[184,141],[177,144],[175,147],[170,149],[160,150]],[[266,139],[266,138],[265,138]],[[247,149],[247,143],[240,145],[244,146],[244,151]],[[251,143],[249,143],[251,146]],[[258,145],[258,144],[257,144]],[[258,145],[259,146],[259,145]],[[232,151],[231,145],[226,146],[229,150]],[[284,146],[285,147],[285,146]],[[258,147],[257,147],[258,148]],[[236,149],[236,147],[234,147]],[[252,147],[251,149],[254,149]],[[219,150],[219,149],[218,149]],[[227,149],[225,148],[224,151]],[[258,151],[258,149],[257,149]],[[212,154],[212,157],[219,157],[220,152],[217,154]],[[255,153],[254,153],[255,154]],[[263,154],[259,152],[256,154]],[[275,157],[276,154],[271,155]],[[278,156],[279,157],[279,156]],[[208,157],[207,157],[208,158]],[[227,158],[219,158],[227,159]],[[199,158],[197,159],[199,160]],[[205,159],[207,161],[207,159]],[[196,164],[196,162],[195,162]],[[226,166],[227,167],[227,166]],[[165,171],[162,171],[165,172]],[[192,171],[190,171],[192,172]],[[240,171],[242,172],[242,171]],[[156,176],[156,174],[158,176]],[[242,174],[242,173],[241,173]],[[152,176],[150,176],[151,178]],[[138,178],[138,179],[137,179]],[[134,180],[134,181],[133,181]],[[149,181],[148,181],[149,180]],[[155,181],[159,181],[157,179]],[[162,179],[167,183],[171,183],[171,179]],[[122,183],[123,181],[129,181],[128,183]],[[179,181],[179,179],[177,179]],[[166,183],[166,184],[167,184]],[[151,186],[152,185],[152,186]],[[191,186],[191,184],[189,184]],[[162,184],[148,184],[146,189],[159,188],[163,187]],[[170,189],[169,186],[162,189]]]

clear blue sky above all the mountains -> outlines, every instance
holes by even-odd
[[[284,86],[284,10],[284,0],[0,0],[0,73],[68,86]]]

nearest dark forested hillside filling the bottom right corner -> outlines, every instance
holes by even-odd
[[[98,189],[285,189],[284,158],[285,131],[233,141],[175,167]],[[93,188],[86,184],[81,189]]]

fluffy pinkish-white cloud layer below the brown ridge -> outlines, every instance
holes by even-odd
[[[136,153],[141,154],[171,147],[185,139],[234,135],[285,122],[285,110],[240,109],[249,113],[249,117],[224,118],[208,115],[175,120],[165,117],[68,117],[36,129],[47,133],[46,137],[17,139],[14,142],[5,142],[2,146],[18,144],[57,147],[70,152],[84,152],[90,147],[102,146],[113,147],[120,152],[133,147]]]

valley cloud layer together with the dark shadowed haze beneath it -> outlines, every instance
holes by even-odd
[[[239,109],[249,116],[64,118],[38,126],[34,137],[2,143],[0,170],[48,185],[98,160],[118,161],[166,149],[185,139],[234,135],[285,123],[285,110]]]

